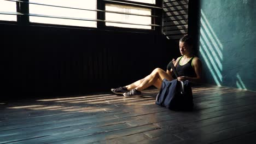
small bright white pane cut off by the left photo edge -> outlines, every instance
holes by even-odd
[[[0,12],[16,12],[16,2],[0,1]],[[17,16],[0,14],[0,20],[17,21]]]

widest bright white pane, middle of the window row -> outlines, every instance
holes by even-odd
[[[30,2],[58,5],[62,7],[80,8],[80,9],[96,9],[96,1],[97,0],[90,0],[90,1],[30,0]],[[96,20],[96,16],[97,16],[96,11],[58,8],[58,7],[50,7],[50,6],[38,5],[38,4],[30,4],[30,14],[65,16],[65,17],[92,19],[92,20]],[[30,22],[49,23],[49,24],[68,25],[68,26],[81,26],[81,27],[97,27],[96,21],[69,20],[69,19],[58,19],[58,18],[37,17],[37,16],[30,16]]]

